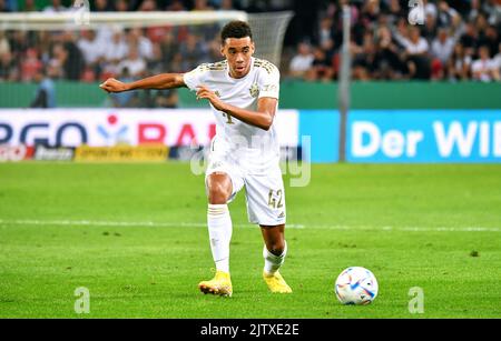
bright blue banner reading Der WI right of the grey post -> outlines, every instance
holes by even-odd
[[[353,110],[346,159],[501,162],[501,110]]]

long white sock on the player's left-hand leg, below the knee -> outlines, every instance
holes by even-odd
[[[218,271],[229,273],[229,241],[232,240],[232,218],[227,204],[210,204],[207,210],[207,225],[210,250]]]

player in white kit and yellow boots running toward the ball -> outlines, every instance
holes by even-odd
[[[278,269],[284,263],[285,198],[279,169],[279,146],[274,117],[278,107],[279,72],[268,61],[254,58],[250,27],[232,21],[220,33],[224,61],[200,64],[187,73],[163,73],[122,83],[108,79],[108,92],[136,89],[187,87],[197,99],[209,101],[216,117],[206,171],[207,224],[216,274],[198,288],[204,293],[230,297],[229,241],[232,219],[228,203],[245,185],[247,213],[261,225],[263,278],[272,292],[289,293]]]

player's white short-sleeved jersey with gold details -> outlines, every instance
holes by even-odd
[[[225,60],[200,64],[185,73],[184,81],[193,91],[204,84],[225,103],[252,111],[257,110],[259,98],[278,99],[279,92],[278,69],[257,58],[252,58],[249,72],[240,79],[229,76]],[[210,107],[216,117],[212,152],[224,153],[248,173],[266,173],[271,167],[278,164],[279,144],[274,124],[266,131]]]

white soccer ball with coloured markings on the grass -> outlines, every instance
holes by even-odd
[[[337,277],[336,297],[343,304],[369,304],[377,295],[377,280],[374,274],[362,267],[351,267]]]

